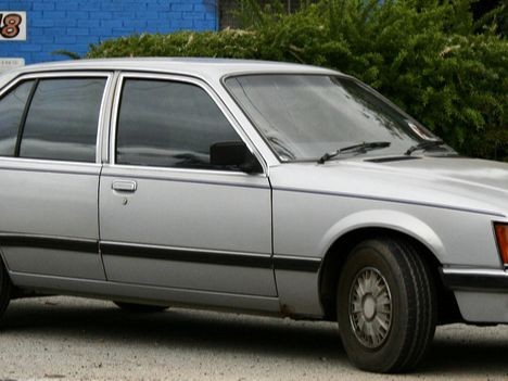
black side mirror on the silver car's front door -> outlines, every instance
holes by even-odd
[[[243,141],[224,141],[212,144],[209,162],[213,166],[238,168],[247,174],[263,173],[259,162]]]

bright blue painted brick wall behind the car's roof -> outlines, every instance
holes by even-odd
[[[216,0],[0,0],[0,11],[27,12],[27,40],[0,41],[0,58],[26,63],[84,54],[90,43],[135,33],[216,30]]]

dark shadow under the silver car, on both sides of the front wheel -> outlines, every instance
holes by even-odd
[[[54,302],[55,301],[55,302]],[[66,301],[73,301],[66,303]],[[77,302],[76,302],[77,301]],[[335,323],[293,321],[239,314],[169,308],[164,313],[130,313],[112,303],[79,299],[15,301],[1,330],[23,336],[107,342],[167,350],[200,348],[259,358],[303,359],[307,364],[348,368]],[[449,328],[452,327],[452,328]],[[409,378],[508,377],[508,328],[454,325],[440,328],[424,361]],[[483,331],[486,330],[486,331]],[[391,376],[405,378],[404,376]]]

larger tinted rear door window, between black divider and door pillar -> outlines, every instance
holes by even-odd
[[[105,78],[41,79],[31,100],[21,157],[94,162]]]

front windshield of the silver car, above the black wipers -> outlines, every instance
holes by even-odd
[[[379,141],[390,144],[351,154],[402,155],[415,144],[437,140],[355,79],[244,75],[228,78],[226,87],[283,162],[318,160],[344,147]]]

